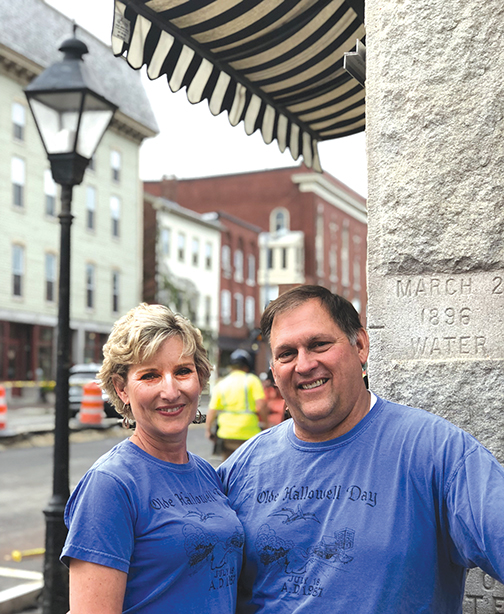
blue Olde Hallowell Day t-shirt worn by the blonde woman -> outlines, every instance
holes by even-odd
[[[243,529],[215,470],[188,455],[168,463],[125,440],[68,501],[62,561],[126,572],[123,612],[234,614]]]

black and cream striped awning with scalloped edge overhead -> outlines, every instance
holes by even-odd
[[[115,0],[112,49],[320,170],[318,141],[364,130],[364,38],[364,0]]]

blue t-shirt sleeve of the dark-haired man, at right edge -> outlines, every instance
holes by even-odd
[[[504,582],[504,469],[483,446],[460,463],[446,505],[456,562]]]

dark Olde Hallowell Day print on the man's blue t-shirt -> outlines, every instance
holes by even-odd
[[[280,579],[278,596],[293,598],[335,590],[334,572],[349,571],[356,554],[355,530],[332,518],[342,506],[373,514],[379,501],[358,482],[263,486],[254,499],[262,519],[254,541],[259,576]]]

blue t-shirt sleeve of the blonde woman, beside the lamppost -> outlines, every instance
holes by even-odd
[[[134,547],[134,510],[125,486],[103,471],[88,472],[65,509],[68,535],[61,561],[79,559],[128,572]]]

